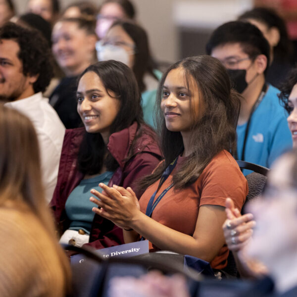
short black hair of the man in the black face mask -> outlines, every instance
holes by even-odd
[[[210,55],[214,48],[230,43],[239,43],[250,58],[264,54],[267,57],[267,66],[264,71],[266,73],[270,61],[270,47],[256,26],[242,21],[228,22],[219,26],[207,42],[206,53]]]

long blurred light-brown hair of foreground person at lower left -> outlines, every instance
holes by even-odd
[[[30,209],[52,239],[70,290],[70,267],[59,246],[41,180],[39,144],[33,124],[22,113],[0,104],[0,207]]]

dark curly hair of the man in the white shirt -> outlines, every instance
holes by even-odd
[[[0,41],[13,40],[19,45],[18,58],[24,75],[38,75],[33,84],[35,93],[44,92],[53,77],[53,60],[49,44],[41,33],[8,22],[0,27]]]

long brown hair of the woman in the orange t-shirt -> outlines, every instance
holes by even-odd
[[[157,127],[160,135],[160,146],[164,161],[142,181],[142,186],[149,186],[157,181],[166,167],[181,153],[184,148],[180,132],[166,128],[164,115],[160,109],[163,97],[163,85],[172,69],[184,70],[184,78],[190,93],[191,83],[197,84],[199,99],[202,101],[201,116],[195,118],[191,128],[191,147],[194,151],[183,162],[173,175],[176,189],[185,188],[194,183],[210,160],[220,151],[236,151],[236,124],[240,109],[240,95],[231,88],[230,79],[222,63],[208,55],[193,56],[182,59],[166,71],[157,91]],[[191,95],[190,95],[190,104]]]

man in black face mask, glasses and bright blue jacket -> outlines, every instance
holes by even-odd
[[[212,33],[206,52],[223,63],[234,88],[242,95],[235,157],[269,168],[292,148],[292,136],[277,97],[280,91],[265,82],[268,42],[254,25],[228,22]],[[249,172],[244,170],[245,174]]]

